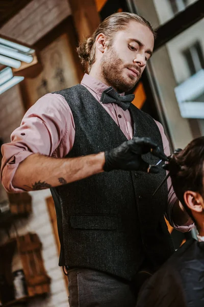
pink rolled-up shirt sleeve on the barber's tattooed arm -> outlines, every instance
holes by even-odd
[[[12,186],[20,162],[32,155],[63,158],[73,146],[75,126],[64,97],[46,94],[25,113],[20,127],[11,135],[11,142],[2,145],[1,181],[8,192],[23,192]]]

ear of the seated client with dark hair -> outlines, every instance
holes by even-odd
[[[203,198],[198,192],[186,191],[184,193],[184,201],[190,210],[195,212],[203,211]]]

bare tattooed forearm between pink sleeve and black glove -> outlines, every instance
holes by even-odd
[[[19,163],[12,186],[26,191],[63,187],[71,182],[103,172],[104,164],[104,152],[69,159],[32,153]]]

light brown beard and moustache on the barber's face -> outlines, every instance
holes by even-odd
[[[125,68],[137,69],[139,75],[135,77],[130,74],[125,78],[122,75]],[[142,75],[141,68],[137,65],[124,64],[113,47],[110,47],[101,58],[101,73],[106,84],[112,86],[118,93],[129,92],[137,84]]]

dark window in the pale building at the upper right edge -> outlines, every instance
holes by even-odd
[[[199,41],[196,41],[190,48],[186,49],[183,54],[188,63],[191,76],[204,69],[204,58]]]

